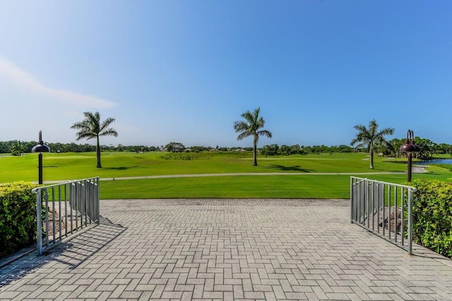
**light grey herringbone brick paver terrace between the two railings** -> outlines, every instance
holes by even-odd
[[[102,200],[101,209],[100,226],[1,269],[0,299],[452,300],[450,260],[420,247],[408,256],[351,224],[346,200]]]

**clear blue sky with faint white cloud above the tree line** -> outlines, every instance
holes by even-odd
[[[1,1],[0,141],[341,145],[356,124],[452,144],[452,1]],[[82,140],[81,143],[85,143]],[[89,143],[94,141],[88,140]]]

